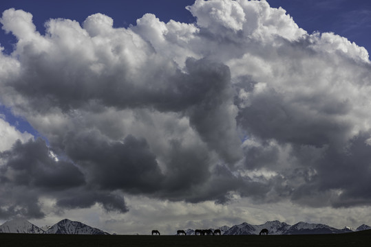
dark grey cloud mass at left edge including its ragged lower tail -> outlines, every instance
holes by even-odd
[[[102,204],[107,211],[126,212],[125,200],[118,193],[94,189],[76,165],[57,161],[43,139],[14,143],[0,153],[1,218],[44,217],[41,196],[55,198],[61,209],[86,208]],[[28,191],[24,193],[24,191]]]

